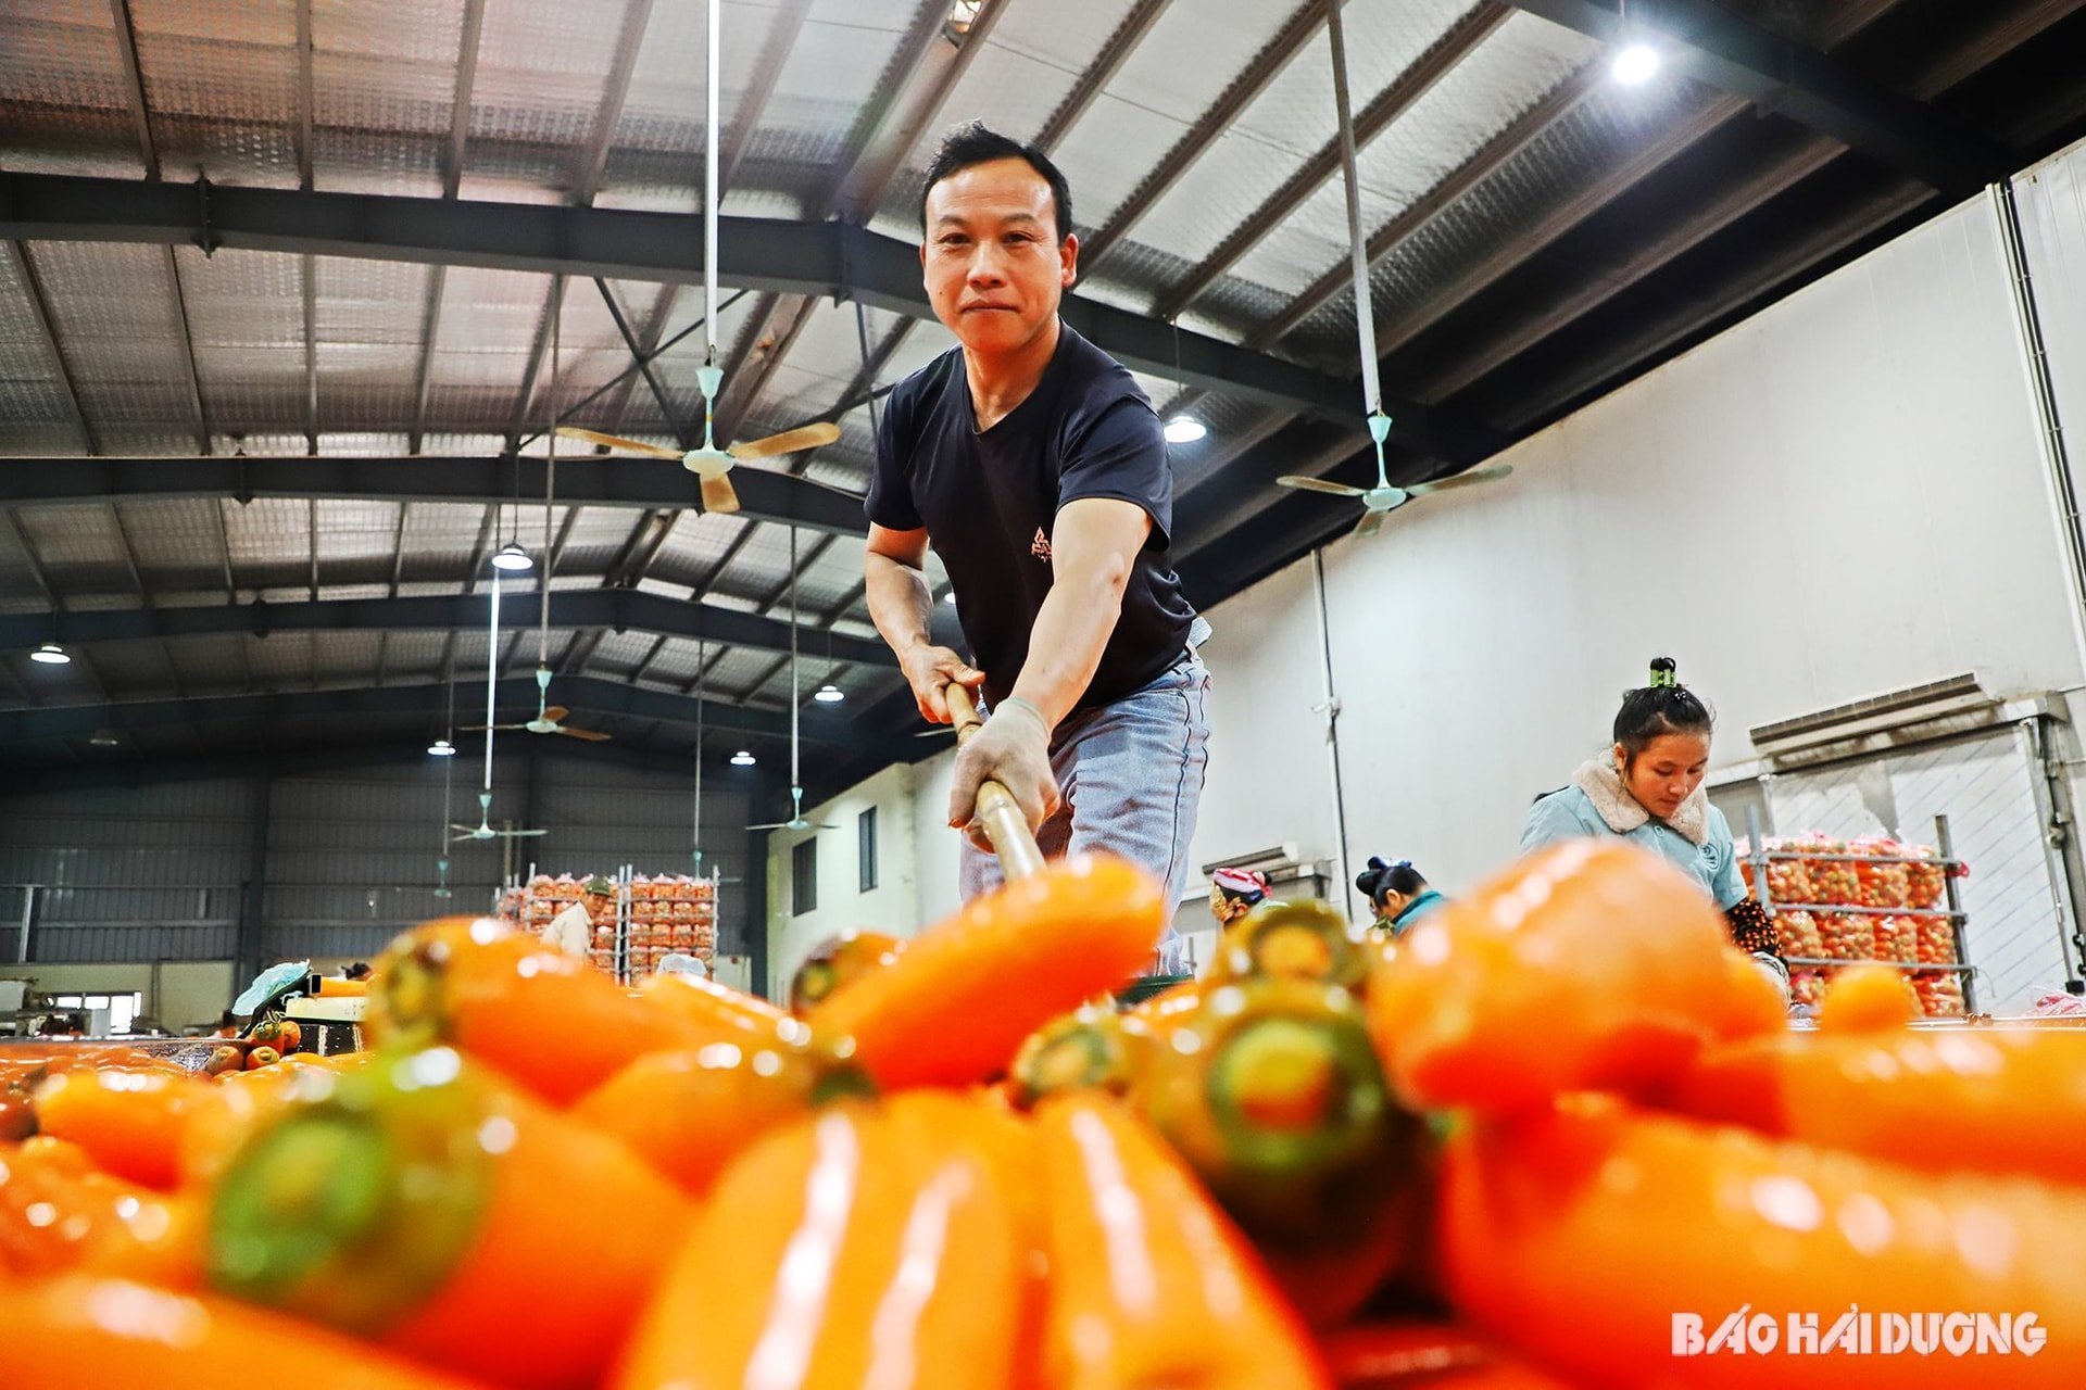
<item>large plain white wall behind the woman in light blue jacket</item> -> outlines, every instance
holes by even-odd
[[[1719,763],[1748,725],[1957,671],[2080,679],[1982,200],[1502,458],[1510,481],[1327,550],[1356,859],[1448,888],[1500,865],[1660,652],[1717,704]],[[1212,621],[1197,857],[1331,848],[1310,563]]]

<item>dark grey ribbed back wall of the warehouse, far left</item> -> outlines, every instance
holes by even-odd
[[[519,756],[515,756],[519,754]],[[584,750],[503,744],[492,821],[551,829],[540,840],[446,842],[478,819],[476,763],[371,763],[277,777],[269,786],[263,954],[367,959],[401,929],[486,911],[503,873],[680,873],[690,867],[690,779],[588,759]],[[25,886],[33,890],[29,961],[223,961],[234,954],[252,871],[254,779],[127,790],[38,792],[0,804],[0,961],[17,954]],[[705,850],[728,884],[720,950],[749,948],[745,781],[705,788]],[[451,898],[436,898],[448,854]],[[227,967],[229,969],[229,967]],[[221,1007],[221,1004],[219,1004]]]

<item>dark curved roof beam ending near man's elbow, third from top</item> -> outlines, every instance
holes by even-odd
[[[140,579],[142,584],[142,579]],[[501,627],[528,631],[538,604],[507,602]],[[0,615],[0,648],[35,648],[40,642],[94,646],[102,642],[167,642],[221,634],[267,638],[280,631],[482,631],[486,600],[471,594],[415,598],[321,598],[317,602],[252,602],[146,609],[69,609],[63,613]],[[718,642],[761,652],[789,652],[791,625],[759,613],[684,602],[640,590],[553,590],[551,627],[607,627],[649,631],[690,642]],[[830,646],[836,661],[897,667],[882,642],[803,625],[797,646]]]

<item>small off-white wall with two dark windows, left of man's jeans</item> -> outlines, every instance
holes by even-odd
[[[843,792],[805,819],[832,825],[776,831],[768,840],[768,998],[786,998],[789,979],[805,954],[830,936],[855,927],[912,936],[920,927],[914,886],[914,769],[893,765]],[[862,892],[857,819],[876,809],[876,888]],[[818,840],[818,907],[797,913],[791,900],[791,857]]]

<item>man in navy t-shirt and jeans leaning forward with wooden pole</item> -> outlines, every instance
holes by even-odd
[[[920,713],[983,688],[957,752],[949,825],[970,827],[966,896],[997,882],[974,823],[1001,781],[1045,854],[1103,848],[1164,879],[1168,904],[1202,796],[1208,625],[1170,563],[1172,471],[1151,402],[1058,319],[1078,269],[1064,175],[983,125],[953,131],[922,196],[920,265],[960,346],[884,406],[870,481],[870,613]],[[955,590],[966,661],[928,638],[928,544]]]

